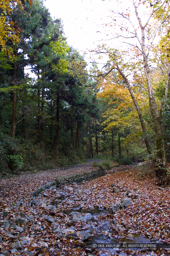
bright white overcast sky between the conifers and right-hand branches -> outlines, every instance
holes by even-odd
[[[44,5],[51,14],[52,18],[61,18],[63,22],[63,30],[67,38],[69,46],[77,49],[81,55],[86,51],[85,60],[89,62],[90,55],[91,60],[93,58],[97,62],[106,63],[107,59],[98,60],[98,56],[92,55],[88,50],[95,49],[97,45],[107,44],[112,48],[119,50],[125,50],[129,48],[127,42],[132,39],[124,39],[119,37],[118,39],[108,40],[115,36],[116,30],[120,29],[118,26],[110,27],[109,23],[113,22],[113,18],[116,19],[116,23],[119,23],[119,18],[114,17],[113,11],[122,12],[121,8],[125,12],[129,12],[135,27],[138,27],[138,21],[134,15],[134,6],[130,0],[43,0]],[[140,6],[144,11],[144,7]],[[144,14],[144,21],[148,16],[148,13]],[[141,17],[142,18],[142,17]],[[142,19],[143,20],[143,19]],[[112,23],[112,24],[113,24]],[[124,26],[128,27],[129,22],[125,21]],[[129,28],[133,30],[132,26]],[[136,28],[137,28],[136,27]],[[119,31],[120,32],[120,31]],[[125,30],[123,31],[125,33]],[[139,34],[140,37],[140,34]],[[137,39],[135,39],[136,41]],[[124,41],[126,43],[124,43]],[[134,42],[133,42],[134,43]],[[131,54],[131,53],[130,53]],[[98,65],[100,68],[103,65]]]

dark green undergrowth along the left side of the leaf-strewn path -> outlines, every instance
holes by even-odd
[[[67,154],[59,152],[48,144],[34,140],[11,138],[0,132],[0,176],[10,176],[18,172],[52,169],[57,166],[69,166],[85,161],[83,153],[68,150]]]

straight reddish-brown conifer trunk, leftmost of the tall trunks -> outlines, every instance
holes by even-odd
[[[15,52],[15,57],[18,55],[18,50]],[[17,60],[14,64],[14,82],[17,85]],[[12,127],[11,127],[11,137],[15,138],[15,122],[16,122],[16,107],[17,107],[17,90],[13,91],[13,104],[12,104]]]

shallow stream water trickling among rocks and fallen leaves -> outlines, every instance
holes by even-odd
[[[121,169],[121,170],[124,170],[124,169]],[[109,172],[109,174],[111,173],[113,172]],[[97,179],[99,177],[103,177],[109,174],[93,176],[84,181],[77,182],[77,184],[80,185],[80,189],[81,189],[82,184],[85,185],[87,182],[90,182],[94,179]],[[79,201],[79,200],[75,200],[75,201]],[[57,207],[58,202],[53,201],[51,202],[51,204]],[[69,216],[69,214],[72,211],[80,212],[80,215],[83,215],[87,218],[86,225],[83,227],[81,231],[89,232],[90,234],[92,234],[92,236],[85,241],[86,246],[89,248],[90,247],[93,248],[93,244],[100,244],[100,243],[106,243],[106,244],[108,243],[119,243],[119,244],[120,243],[133,243],[133,244],[134,243],[151,243],[149,239],[147,239],[144,236],[140,236],[138,233],[132,233],[134,237],[133,239],[128,239],[127,237],[122,236],[121,234],[117,236],[117,238],[115,237],[113,238],[111,235],[114,233],[113,227],[116,225],[116,223],[114,223],[112,219],[106,218],[107,215],[110,215],[112,213],[111,209],[104,209],[100,206],[94,206],[94,209],[83,209],[83,208],[81,209],[76,205],[73,205],[71,208],[67,210],[62,210],[61,213]],[[71,224],[70,224],[70,227],[71,227]],[[126,229],[128,230],[128,226],[126,227]],[[115,253],[115,251],[119,252],[119,249],[116,249],[116,248],[96,248],[96,249],[101,251],[104,250],[105,252],[107,251],[109,253]],[[102,252],[100,255],[102,255]],[[106,255],[106,253],[103,255]],[[119,252],[119,255],[127,255],[127,254],[121,250]]]

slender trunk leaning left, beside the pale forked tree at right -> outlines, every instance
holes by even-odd
[[[130,95],[131,95],[131,97],[132,97],[132,100],[133,100],[133,102],[134,102],[134,105],[135,105],[135,107],[136,107],[136,110],[137,110],[137,113],[138,113],[138,116],[139,116],[139,120],[140,120],[140,123],[141,123],[143,135],[146,136],[145,123],[144,123],[144,120],[143,120],[143,117],[142,117],[142,113],[141,113],[140,108],[139,108],[139,106],[138,106],[138,103],[137,103],[137,101],[136,101],[136,99],[135,99],[135,97],[134,97],[134,95],[133,95],[133,92],[132,92],[132,89],[131,89],[131,87],[130,87],[129,81],[128,81],[128,79],[125,77],[125,75],[123,74],[123,72],[119,69],[118,66],[117,66],[116,69],[119,71],[119,73],[121,74],[121,76],[122,76],[122,78],[124,79],[125,83],[127,84],[128,90],[129,90],[129,92],[130,92]],[[148,153],[150,154],[150,153],[151,153],[151,148],[150,148],[150,145],[149,145],[149,141],[148,141],[148,139],[147,139],[146,137],[145,137],[144,141],[145,141],[145,145],[146,145],[147,151],[148,151]]]

